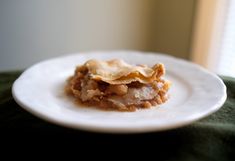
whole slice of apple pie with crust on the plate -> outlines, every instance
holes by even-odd
[[[135,111],[168,100],[170,83],[162,77],[164,65],[130,65],[120,59],[91,59],[76,68],[65,91],[85,106]]]

